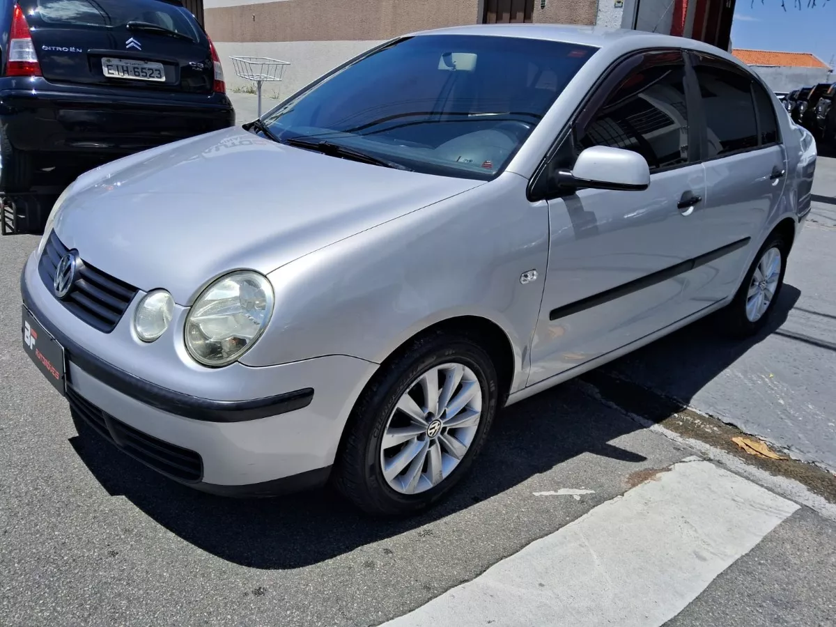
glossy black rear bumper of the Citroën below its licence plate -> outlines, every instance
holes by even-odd
[[[110,89],[0,86],[0,124],[18,150],[115,157],[227,128],[235,124],[235,111],[225,94],[140,97]]]

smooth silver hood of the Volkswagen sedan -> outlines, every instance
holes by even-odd
[[[54,229],[85,263],[187,305],[218,275],[269,273],[481,184],[329,157],[237,127],[79,177]]]

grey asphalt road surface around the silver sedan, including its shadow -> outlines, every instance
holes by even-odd
[[[836,314],[822,304],[833,273],[821,262],[828,253],[818,247],[830,246],[832,254],[833,244],[819,230],[810,225],[799,240],[788,278],[797,294],[788,288],[785,298]],[[590,398],[583,383],[569,383],[502,411],[472,475],[454,497],[421,517],[370,520],[327,491],[248,502],[193,492],[98,436],[77,433],[64,401],[23,354],[18,276],[36,242],[31,236],[0,239],[0,263],[7,268],[0,275],[3,625],[380,624],[477,577],[692,452]],[[804,272],[808,263],[815,272]],[[795,316],[793,309],[785,324]],[[803,320],[793,331],[833,342],[832,331],[827,335],[832,325],[808,329]],[[831,450],[831,352],[783,336],[735,348],[709,340],[708,330],[689,329],[678,341],[663,340],[638,354],[630,362],[638,365],[615,368],[663,391],[668,388],[654,373],[672,372],[668,382],[678,381],[676,372],[699,373],[691,375],[687,396],[707,406],[705,399],[728,397],[714,392],[717,380],[739,378],[735,373],[745,373],[743,365],[752,360],[768,368],[762,385],[774,379],[803,388],[783,391],[782,405],[767,402],[772,396],[754,384],[740,385],[728,393],[737,400],[727,417],[773,433],[785,426],[776,440],[797,447],[812,442],[819,448],[811,455]],[[801,352],[786,356],[784,341]],[[797,405],[802,395],[818,411]],[[788,423],[781,413],[786,405],[802,420]],[[561,488],[584,494],[577,500],[533,495]],[[671,624],[828,624],[836,592],[834,531],[833,523],[799,510]],[[757,607],[744,611],[750,602]]]

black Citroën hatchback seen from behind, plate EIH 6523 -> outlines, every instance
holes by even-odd
[[[178,0],[0,0],[0,192],[235,123],[212,41]]]

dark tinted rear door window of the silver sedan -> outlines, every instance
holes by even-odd
[[[706,65],[696,67],[696,78],[706,115],[707,158],[757,147],[752,79]]]

